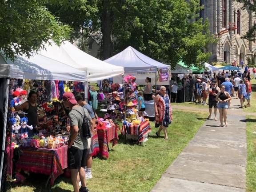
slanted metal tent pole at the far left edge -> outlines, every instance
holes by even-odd
[[[6,89],[5,89],[5,108],[4,108],[4,128],[3,128],[3,141],[2,141],[2,152],[1,152],[1,166],[0,166],[0,189],[2,183],[3,175],[3,163],[4,163],[4,152],[5,152],[5,140],[6,140],[6,129],[7,129],[7,118],[8,118],[8,97],[9,97],[9,84],[10,80],[6,80]]]

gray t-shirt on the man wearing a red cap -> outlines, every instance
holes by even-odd
[[[78,125],[79,131],[78,131],[78,135],[76,136],[76,139],[74,141],[74,144],[72,145],[72,147],[77,148],[77,149],[87,149],[87,140],[83,138],[83,116],[80,114],[85,114],[85,116],[88,118],[88,120],[92,120],[91,116],[89,115],[88,111],[86,109],[84,109],[81,106],[75,107],[73,108],[68,116],[70,119],[70,126],[74,126],[74,125]],[[72,136],[72,132],[71,132],[71,136]]]

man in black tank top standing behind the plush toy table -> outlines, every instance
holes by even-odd
[[[28,101],[20,106],[16,107],[16,111],[23,111],[28,117],[28,125],[32,125],[33,129],[28,129],[28,135],[32,136],[36,133],[36,127],[39,126],[38,115],[37,115],[37,94],[36,92],[29,92],[28,94]]]

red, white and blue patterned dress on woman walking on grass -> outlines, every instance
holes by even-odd
[[[168,127],[172,123],[172,107],[169,96],[161,96],[156,104],[159,116],[156,116],[156,124],[163,124],[164,127]]]

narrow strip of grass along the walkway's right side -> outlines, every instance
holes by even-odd
[[[247,192],[256,192],[256,116],[246,116],[247,132]]]

